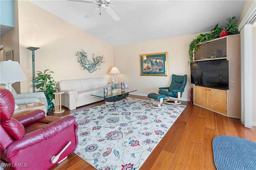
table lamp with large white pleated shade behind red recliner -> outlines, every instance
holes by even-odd
[[[12,84],[22,81],[25,78],[25,74],[20,67],[18,61],[1,61],[0,63],[0,82],[4,83],[5,88],[12,92]],[[18,106],[15,105],[15,109]]]

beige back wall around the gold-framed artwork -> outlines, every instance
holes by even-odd
[[[159,87],[170,86],[172,74],[188,75],[183,101],[190,101],[190,66],[188,65],[188,46],[196,36],[192,34],[174,38],[165,38],[130,45],[114,47],[114,65],[120,70],[116,75],[119,82],[125,82],[130,89],[138,95],[158,93]],[[140,54],[168,52],[168,77],[166,76],[140,76]]]

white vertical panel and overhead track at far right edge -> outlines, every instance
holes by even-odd
[[[256,126],[255,1],[238,26],[241,37],[241,121],[247,128]]]

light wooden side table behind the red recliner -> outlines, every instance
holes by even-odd
[[[30,111],[34,111],[36,109],[41,109],[43,110],[45,108],[45,105],[42,103],[34,103],[33,106],[26,106],[26,104],[24,105],[18,105],[18,109],[14,110],[14,113],[12,115],[12,117],[14,116],[18,116],[18,115],[22,115],[24,113],[30,112]],[[46,116],[46,113],[45,113]]]

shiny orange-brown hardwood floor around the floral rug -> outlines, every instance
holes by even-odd
[[[148,97],[129,95],[146,99]],[[69,111],[64,107],[62,117],[86,108],[104,104],[104,101]],[[227,118],[212,111],[182,101],[187,107],[152,151],[140,170],[214,170],[212,139],[218,135],[238,136],[256,142],[256,127],[245,128],[239,119]],[[63,109],[63,108],[62,108]],[[93,166],[72,153],[51,170],[93,170]]]

